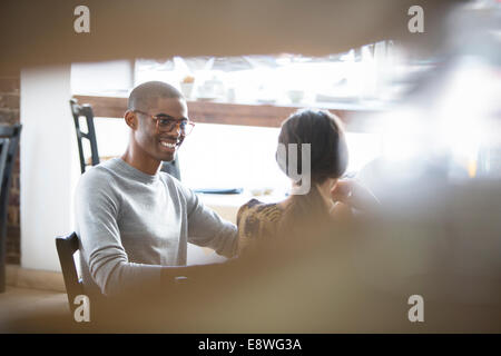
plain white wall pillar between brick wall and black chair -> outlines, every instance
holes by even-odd
[[[70,66],[21,71],[21,267],[60,270],[55,237],[72,228],[75,127]]]

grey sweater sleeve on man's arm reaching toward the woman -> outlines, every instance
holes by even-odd
[[[223,220],[206,207],[191,189],[177,184],[186,199],[188,241],[213,248],[218,255],[234,257],[238,249],[238,234],[234,224]]]

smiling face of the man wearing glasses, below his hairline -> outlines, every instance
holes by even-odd
[[[158,98],[151,100],[149,108],[136,109],[148,113],[147,116],[136,111],[138,129],[135,130],[134,137],[137,145],[156,160],[173,160],[185,137],[180,135],[178,126],[168,132],[158,130],[157,120],[150,116],[167,115],[175,119],[185,119],[188,117],[186,101],[181,98]]]

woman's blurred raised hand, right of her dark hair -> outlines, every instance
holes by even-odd
[[[331,190],[334,201],[341,201],[358,210],[371,210],[381,207],[377,198],[355,179],[340,179]]]

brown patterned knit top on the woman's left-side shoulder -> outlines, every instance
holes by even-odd
[[[259,241],[273,239],[282,212],[277,204],[264,204],[257,199],[244,204],[237,214],[238,255],[255,249]]]

